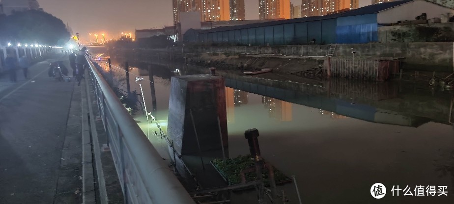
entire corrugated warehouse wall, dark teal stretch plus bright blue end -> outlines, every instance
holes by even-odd
[[[306,45],[378,41],[377,14],[200,33],[199,41],[232,45]]]

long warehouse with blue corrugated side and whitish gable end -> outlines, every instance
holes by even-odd
[[[378,42],[378,27],[412,21],[423,13],[432,19],[454,12],[426,0],[399,0],[327,16],[191,30],[184,39],[233,45],[369,43]]]

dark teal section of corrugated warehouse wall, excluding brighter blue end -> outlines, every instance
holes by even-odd
[[[233,45],[305,45],[336,43],[336,19],[200,33],[199,41]]]

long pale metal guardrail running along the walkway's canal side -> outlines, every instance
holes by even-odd
[[[96,101],[127,204],[195,204],[88,56]]]

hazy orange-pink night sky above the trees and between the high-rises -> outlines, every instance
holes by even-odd
[[[135,29],[173,26],[171,0],[38,0],[44,11],[63,20],[79,32],[81,40],[88,33],[118,38],[121,32]],[[300,5],[301,0],[291,0]],[[246,20],[258,19],[258,0],[245,0]],[[82,15],[84,14],[84,15]],[[134,35],[134,34],[133,34]],[[85,38],[85,40],[83,39]],[[94,37],[93,37],[94,39]]]

